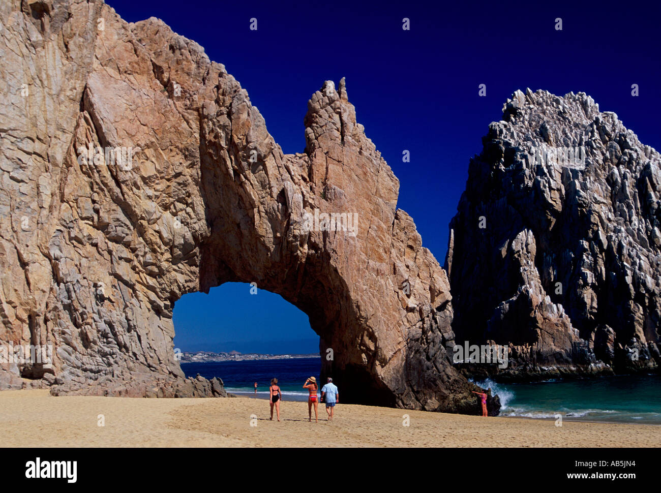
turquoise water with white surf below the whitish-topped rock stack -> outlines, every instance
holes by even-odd
[[[501,416],[661,424],[661,375],[539,383],[476,382],[500,397]]]

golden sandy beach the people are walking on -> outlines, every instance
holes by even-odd
[[[266,400],[52,397],[46,390],[0,392],[3,447],[660,447],[661,426],[482,418],[338,404],[332,422],[319,405],[284,401],[282,422]],[[98,426],[99,414],[105,426]],[[251,426],[252,420],[256,426]],[[403,426],[403,415],[410,426]],[[314,418],[314,412],[313,412]]]

